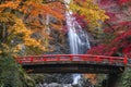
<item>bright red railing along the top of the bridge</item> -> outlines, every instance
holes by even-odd
[[[92,54],[45,54],[17,57],[17,63],[44,63],[44,62],[88,62],[88,63],[108,63],[127,64],[127,58],[105,57]]]

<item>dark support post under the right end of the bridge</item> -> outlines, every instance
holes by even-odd
[[[106,87],[117,87],[118,79],[120,78],[121,74],[115,73],[108,75],[107,86]]]

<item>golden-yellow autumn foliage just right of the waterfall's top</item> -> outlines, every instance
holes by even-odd
[[[84,18],[91,28],[100,26],[100,22],[108,18],[105,11],[99,9],[94,0],[72,0],[70,9],[80,18]]]

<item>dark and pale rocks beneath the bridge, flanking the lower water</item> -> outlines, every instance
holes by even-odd
[[[47,79],[46,79],[46,78]],[[82,76],[81,79],[79,79],[79,83],[73,85],[72,84],[72,77],[70,77],[70,74],[46,74],[44,76],[45,80],[43,83],[37,84],[36,87],[92,87],[93,85],[86,79],[84,76]]]

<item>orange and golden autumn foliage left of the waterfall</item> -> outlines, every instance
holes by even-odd
[[[38,49],[48,51],[49,26],[60,29],[64,20],[62,14],[64,10],[58,11],[56,8],[58,4],[63,9],[60,2],[44,3],[43,0],[1,1],[1,52],[3,48],[7,52],[9,48],[14,52],[24,48],[26,53],[36,53]],[[59,24],[50,22],[50,17],[57,20]]]

